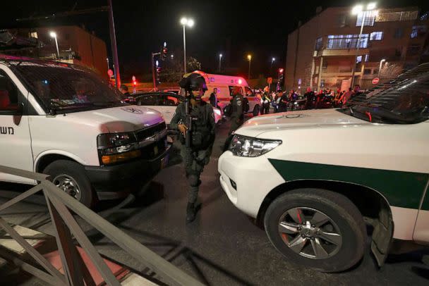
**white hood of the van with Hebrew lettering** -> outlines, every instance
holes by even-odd
[[[143,106],[119,106],[67,113],[64,118],[92,126],[102,133],[135,131],[164,121],[161,113]]]

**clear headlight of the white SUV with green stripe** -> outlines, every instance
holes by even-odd
[[[258,139],[234,135],[228,150],[235,156],[258,157],[282,144],[282,140]]]

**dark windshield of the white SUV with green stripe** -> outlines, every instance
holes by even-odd
[[[429,68],[429,65],[428,65]],[[429,118],[429,73],[404,73],[349,101],[340,111],[375,123],[411,124]]]

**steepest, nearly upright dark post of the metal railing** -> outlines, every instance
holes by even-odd
[[[69,286],[83,286],[83,274],[80,271],[80,267],[76,267],[75,259],[73,259],[73,251],[76,251],[75,245],[71,241],[70,232],[65,229],[61,217],[59,216],[56,209],[49,200],[47,189],[43,190],[44,197],[47,201],[49,214],[51,215],[52,225],[55,230],[56,244],[58,246],[59,255],[61,258],[61,264],[66,273],[66,282]],[[74,256],[75,257],[75,256]],[[68,259],[67,259],[68,258]]]

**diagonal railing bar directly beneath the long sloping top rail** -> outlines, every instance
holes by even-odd
[[[75,239],[78,240],[80,246],[85,249],[87,255],[90,256],[92,263],[94,263],[99,273],[102,274],[104,282],[107,282],[107,285],[120,286],[121,283],[119,283],[113,273],[111,273],[110,268],[104,262],[102,256],[99,255],[97,249],[95,249],[78,223],[76,223],[76,220],[73,218],[66,206],[64,206],[64,204],[62,204],[61,201],[59,201],[59,199],[57,199],[54,195],[48,193],[48,197],[61,218],[63,218],[66,225],[68,225],[68,229],[73,233]]]

